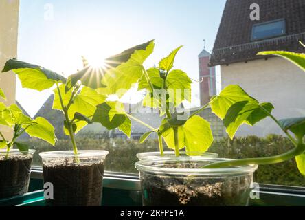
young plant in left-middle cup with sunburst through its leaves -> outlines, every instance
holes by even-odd
[[[24,88],[37,91],[54,88],[53,109],[62,111],[65,116],[63,129],[71,139],[76,162],[78,162],[76,133],[93,122],[95,109],[99,104],[105,102],[107,96],[112,94],[115,88],[124,88],[126,85],[124,82],[116,82],[112,75],[128,78],[130,83],[133,82],[132,77],[125,76],[122,73],[126,72],[124,69],[130,69],[135,74],[138,69],[137,62],[143,63],[145,60],[144,56],[138,56],[137,51],[146,50],[148,45],[150,45],[150,42],[131,47],[115,56],[110,56],[106,58],[104,64],[101,63],[101,67],[89,65],[83,57],[83,69],[68,78],[39,65],[16,59],[7,61],[2,72],[12,70],[19,77]],[[102,65],[104,66],[102,67]],[[99,108],[102,107],[103,105],[99,105]],[[122,129],[124,129],[123,126]]]

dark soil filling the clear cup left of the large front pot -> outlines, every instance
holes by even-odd
[[[54,199],[46,199],[48,206],[100,206],[104,162],[44,165],[43,175],[54,186]]]

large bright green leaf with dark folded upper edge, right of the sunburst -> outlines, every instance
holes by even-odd
[[[98,89],[100,94],[123,96],[142,77],[143,63],[153,53],[154,45],[154,41],[148,41],[108,58],[107,63],[116,67],[109,69],[104,75],[102,83],[107,87]]]

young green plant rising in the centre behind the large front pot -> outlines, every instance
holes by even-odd
[[[150,130],[144,133],[140,142],[144,142],[152,133],[157,133],[161,156],[163,156],[164,151],[163,140],[177,156],[180,155],[179,151],[183,148],[189,155],[201,154],[207,151],[213,142],[210,123],[196,116],[207,106],[192,115],[185,115],[177,111],[177,107],[184,100],[190,101],[192,83],[192,80],[181,69],[173,69],[174,58],[181,47],[163,58],[158,67],[146,69],[143,65],[143,58],[146,59],[153,52],[153,47],[153,41],[150,41],[146,50],[139,50],[132,62],[128,61],[133,64],[132,72],[130,71],[131,67],[126,66],[121,69],[120,74],[111,74],[111,76],[106,74],[105,78],[112,77],[111,80],[119,85],[112,87],[112,92],[118,94],[119,97],[124,95],[135,83],[138,84],[138,90],[145,89],[146,96],[143,105],[159,109],[160,117],[163,119],[159,128],[153,128],[153,126],[126,113],[124,105],[120,101],[108,101],[98,106],[95,115],[93,115],[93,121],[102,123],[108,129],[118,127],[122,131],[128,131],[128,133],[125,132],[128,136],[130,136],[131,120],[139,122]],[[122,92],[123,85],[126,90]]]

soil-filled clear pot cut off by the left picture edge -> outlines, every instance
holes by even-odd
[[[34,150],[20,152],[0,151],[0,199],[23,195],[27,192]]]

